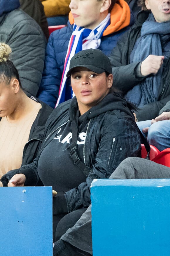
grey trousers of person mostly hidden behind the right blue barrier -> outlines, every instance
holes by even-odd
[[[143,158],[128,157],[119,164],[109,179],[164,178],[170,178],[169,167],[156,164]],[[61,239],[93,255],[91,236],[91,205],[87,208],[86,212],[84,212],[74,227],[69,228]]]

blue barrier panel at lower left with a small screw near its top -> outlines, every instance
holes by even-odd
[[[52,256],[52,187],[0,187],[0,255]]]

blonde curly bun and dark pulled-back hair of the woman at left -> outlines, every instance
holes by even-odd
[[[10,84],[12,78],[16,78],[22,89],[18,70],[13,62],[9,60],[11,48],[8,44],[0,43],[0,83]]]

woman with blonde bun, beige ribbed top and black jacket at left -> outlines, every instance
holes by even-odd
[[[33,161],[52,112],[52,108],[23,92],[10,53],[9,45],[0,43],[0,177]]]

